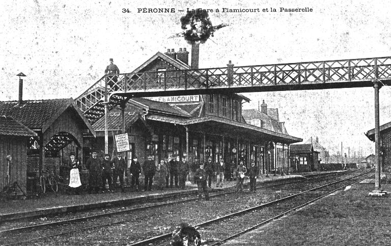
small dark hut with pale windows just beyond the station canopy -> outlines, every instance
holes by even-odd
[[[292,144],[290,148],[291,167],[298,172],[320,171],[319,152],[314,150],[312,144]]]

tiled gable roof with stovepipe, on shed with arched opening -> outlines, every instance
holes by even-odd
[[[0,115],[11,116],[32,130],[45,131],[68,107],[72,107],[78,113],[92,134],[95,135],[90,123],[74,104],[72,98],[23,100],[22,105],[18,105],[18,101],[3,101],[0,102]]]

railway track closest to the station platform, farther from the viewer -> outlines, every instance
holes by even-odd
[[[344,175],[346,173],[341,173],[340,175]],[[323,175],[322,177],[317,177],[317,178],[313,178],[314,179],[322,179],[322,178],[331,178],[331,177],[334,177],[334,176],[337,176],[337,175]],[[309,182],[311,180],[295,180],[293,182],[298,182],[298,181],[302,181],[302,182]],[[288,182],[277,182],[277,183],[274,183],[274,184],[268,184],[267,186],[259,186],[258,188],[266,188],[266,187],[270,187],[270,186],[280,186],[280,185],[284,185],[284,184],[287,184],[287,183],[292,183],[292,181],[288,181]],[[229,192],[225,192],[225,193],[221,193],[221,194],[216,194],[216,195],[212,195],[211,197],[218,197],[218,196],[222,196],[222,195],[229,195],[229,194],[232,194],[234,193],[233,191],[229,191]],[[0,231],[0,235],[3,236],[3,239],[6,239],[6,241],[4,241],[6,244],[3,244],[4,242],[2,242],[3,245],[15,245],[15,244],[22,244],[22,243],[26,243],[26,242],[29,242],[29,241],[36,241],[36,240],[42,240],[44,238],[48,238],[48,237],[55,237],[55,236],[60,236],[60,235],[65,235],[65,234],[72,234],[72,233],[75,233],[75,232],[80,232],[82,230],[92,230],[92,229],[96,229],[96,228],[99,228],[99,227],[108,227],[108,226],[111,226],[111,225],[115,225],[115,224],[123,224],[123,223],[128,223],[128,222],[131,222],[131,221],[137,221],[137,220],[141,220],[145,217],[153,217],[157,214],[157,212],[152,212],[152,213],[148,213],[148,214],[144,214],[143,216],[135,216],[135,213],[139,212],[139,211],[142,211],[142,210],[148,210],[148,209],[157,209],[157,208],[160,208],[162,206],[169,206],[169,205],[173,205],[173,204],[176,204],[176,203],[184,203],[184,202],[190,202],[190,201],[194,201],[196,200],[197,198],[191,198],[191,199],[186,199],[186,200],[179,200],[179,201],[173,201],[173,202],[167,202],[167,203],[159,203],[159,204],[154,204],[154,205],[149,205],[149,206],[144,206],[144,207],[138,207],[138,208],[131,208],[131,209],[123,209],[123,210],[120,210],[120,211],[113,211],[113,212],[108,212],[108,213],[100,213],[100,214],[94,214],[93,216],[86,216],[86,217],[80,217],[80,218],[74,218],[74,219],[70,219],[70,220],[62,220],[62,221],[57,221],[57,222],[51,222],[51,223],[42,223],[40,225],[32,225],[32,226],[24,226],[24,227],[19,227],[19,228],[12,228],[12,229],[8,229],[8,230],[4,230],[4,231]],[[170,211],[169,211],[170,212]],[[124,215],[126,214],[126,216]],[[130,215],[129,215],[130,214]],[[113,220],[113,217],[124,217],[122,219],[117,219],[117,220]],[[101,223],[101,222],[97,222],[97,223],[91,223],[92,221],[98,219],[98,218],[104,218],[106,217],[109,222],[108,223]],[[126,217],[126,218],[125,218]],[[88,223],[87,223],[88,222]],[[72,224],[72,223],[81,223],[83,224],[83,228],[76,228],[75,230],[58,230],[56,229],[57,226],[60,226],[60,225],[69,225],[69,224]],[[89,226],[86,226],[85,224],[88,224]],[[50,230],[47,230],[47,228],[51,228]],[[40,236],[39,237],[36,237],[36,238],[31,238],[29,237],[28,240],[24,240],[24,241],[16,241],[15,242],[15,236],[16,238],[23,238],[23,236],[18,236],[19,233],[21,232],[31,232],[31,231],[48,231],[47,232],[42,232],[42,233],[37,233],[39,234]],[[50,233],[51,231],[56,231],[57,233]],[[14,234],[14,239],[10,238],[10,237],[7,237],[7,235],[10,235],[10,234]],[[6,237],[4,237],[4,235],[6,235]]]

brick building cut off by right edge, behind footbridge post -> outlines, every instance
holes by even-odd
[[[369,130],[365,135],[369,140],[375,141],[375,129]],[[367,161],[368,160],[369,159],[367,159]],[[375,160],[374,157],[373,160]],[[380,168],[382,172],[391,172],[391,122],[380,126],[379,162],[381,163]]]

